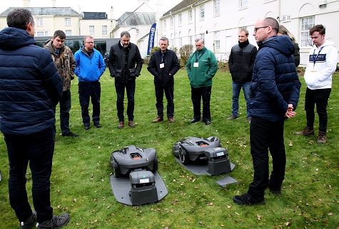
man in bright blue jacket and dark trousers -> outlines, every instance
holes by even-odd
[[[79,78],[79,102],[84,129],[90,129],[88,114],[90,97],[93,105],[92,121],[94,126],[100,128],[101,87],[99,80],[106,70],[106,65],[101,53],[94,48],[92,36],[85,36],[84,47],[76,51],[74,59],[76,60],[74,73]]]

